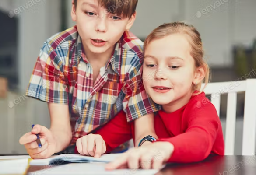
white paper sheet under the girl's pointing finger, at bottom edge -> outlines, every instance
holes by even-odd
[[[105,165],[105,163],[100,162],[70,163],[30,172],[28,175],[154,175],[159,171],[156,169],[117,169],[106,171]]]

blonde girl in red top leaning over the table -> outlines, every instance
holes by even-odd
[[[154,118],[158,138],[142,140],[140,147],[126,151],[107,165],[115,169],[161,168],[165,162],[202,161],[210,154],[224,155],[221,122],[214,105],[200,91],[209,80],[203,59],[200,33],[182,22],[154,29],[144,42],[143,84],[152,100],[161,105]],[[77,140],[80,154],[103,154],[134,138],[134,124],[125,113],[91,134]]]

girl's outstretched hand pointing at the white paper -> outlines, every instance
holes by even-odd
[[[159,169],[170,158],[174,147],[169,142],[154,142],[143,147],[131,148],[115,161],[106,165],[107,170],[116,168]]]

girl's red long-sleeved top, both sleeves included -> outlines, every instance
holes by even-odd
[[[224,155],[221,121],[204,92],[192,96],[175,112],[158,111],[154,129],[158,141],[167,141],[174,146],[168,162],[188,163],[202,161],[210,154]],[[95,134],[102,136],[109,152],[131,138],[134,140],[134,123],[127,123],[126,114],[121,111]]]

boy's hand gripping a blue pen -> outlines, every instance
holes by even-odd
[[[38,147],[35,134],[39,134],[42,147]],[[56,149],[56,141],[52,132],[41,125],[35,125],[31,132],[25,133],[20,138],[19,142],[25,146],[28,154],[33,159],[49,158],[55,153]]]

